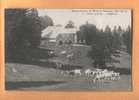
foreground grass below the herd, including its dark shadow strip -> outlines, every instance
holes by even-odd
[[[47,66],[47,65],[46,65]],[[13,72],[13,68],[16,72]],[[84,90],[84,91],[130,91],[130,75],[121,75],[118,81],[92,83],[85,76],[60,74],[55,68],[44,68],[34,65],[7,63],[7,90]]]

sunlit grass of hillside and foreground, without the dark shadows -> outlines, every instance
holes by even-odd
[[[76,52],[78,50],[81,51],[81,55],[76,59],[74,64],[82,65],[84,67],[92,67],[91,60],[86,56],[87,51],[89,50],[89,47],[83,47],[83,46],[74,46],[72,49],[69,49],[68,52]],[[61,50],[67,50],[67,47],[59,47],[55,48],[56,53],[60,52]],[[66,63],[66,59],[62,56],[58,56],[53,59],[62,60],[64,63]],[[53,59],[50,59],[53,60]],[[123,68],[130,68],[130,57],[126,53],[122,53],[120,57],[120,64],[116,64],[117,67],[123,67]],[[15,72],[13,70],[16,70]],[[39,65],[30,65],[30,64],[19,64],[19,63],[6,63],[6,81],[7,82],[63,82],[62,85],[56,83],[51,83],[47,86],[47,84],[42,83],[39,86],[27,86],[29,89],[35,88],[35,89],[97,89],[97,86],[90,87],[89,83],[85,83],[84,77],[74,77],[71,78],[69,76],[63,76],[59,74],[60,71],[55,70],[54,68],[48,67],[44,65],[43,67]],[[118,82],[112,82],[109,86],[107,84],[104,84],[105,86],[102,86],[102,90],[109,89],[110,90],[116,90],[116,89],[128,89],[131,84],[131,77],[130,75],[121,76],[122,79]],[[32,83],[33,85],[34,83]],[[37,83],[36,83],[37,84]],[[87,85],[88,84],[88,85]],[[118,85],[121,84],[121,85]],[[22,86],[21,86],[22,87]],[[23,86],[24,87],[24,86]],[[71,87],[71,88],[70,88]]]

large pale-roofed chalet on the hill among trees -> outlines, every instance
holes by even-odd
[[[42,31],[42,38],[48,42],[76,43],[76,28],[64,28],[61,25],[48,26]]]

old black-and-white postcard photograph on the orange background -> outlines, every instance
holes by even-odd
[[[132,91],[131,9],[5,9],[5,90]]]

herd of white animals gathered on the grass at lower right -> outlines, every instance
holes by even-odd
[[[114,81],[114,80],[119,80],[120,79],[120,73],[119,72],[109,71],[107,69],[60,70],[60,74],[69,75],[69,76],[85,76],[88,79],[91,78],[91,80],[93,82],[102,81],[102,80],[112,80],[112,81]]]

